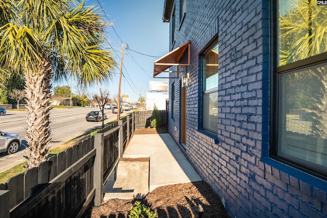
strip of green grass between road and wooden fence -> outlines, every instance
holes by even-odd
[[[104,127],[107,127],[107,126],[109,126],[110,124],[112,124],[114,122],[116,122],[116,120],[113,120],[113,121],[105,124]],[[80,135],[80,136],[78,136],[76,138],[73,138],[73,139],[71,139],[71,140],[63,143],[59,147],[56,147],[56,148],[51,149],[49,151],[49,156],[48,157],[57,155],[60,152],[65,151],[68,148],[67,147],[68,144],[73,144],[73,142],[77,142],[81,138],[87,138],[89,136],[95,135],[101,129],[102,128],[92,129],[92,130],[90,130],[90,131],[88,131],[88,132],[86,132],[86,133],[84,133],[84,134],[82,134],[82,135]],[[26,164],[27,164],[27,161],[25,161],[24,163],[17,164],[16,166],[8,169],[7,171],[0,173],[0,184],[1,183],[6,183],[8,181],[8,179],[10,179],[13,176],[16,176],[17,174],[23,174],[23,173],[25,173],[26,169],[24,168],[24,166],[26,166]]]

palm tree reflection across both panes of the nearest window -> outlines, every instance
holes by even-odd
[[[327,10],[312,0],[295,0],[279,14],[281,30],[279,65],[286,65],[327,52]],[[288,77],[286,93],[300,94],[303,106],[314,112],[312,135],[327,138],[327,67],[301,69]],[[290,94],[291,96],[291,94]],[[294,101],[294,97],[289,101]]]

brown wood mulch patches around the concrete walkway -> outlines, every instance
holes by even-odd
[[[137,129],[134,131],[134,134],[157,134],[159,132],[168,133],[168,129]],[[138,161],[148,161],[147,158],[138,159]],[[131,161],[129,158],[124,158],[122,160]],[[134,202],[135,200],[112,199],[98,207],[93,207],[86,218],[127,218]],[[199,217],[198,205],[203,207],[203,218],[230,217],[220,198],[213,192],[211,187],[203,181],[158,187],[148,193],[142,202],[150,206],[151,210],[154,211],[159,218]]]

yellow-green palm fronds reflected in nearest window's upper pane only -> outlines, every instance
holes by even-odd
[[[327,10],[312,0],[295,0],[279,14],[279,65],[327,52]]]

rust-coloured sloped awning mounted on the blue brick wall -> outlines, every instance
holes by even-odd
[[[183,56],[185,50],[187,50],[187,63],[179,63],[179,60]],[[186,62],[186,61],[185,61]],[[178,78],[178,73],[182,71],[169,71],[167,70],[171,66],[190,66],[190,41],[186,42],[185,44],[177,47],[177,49],[174,49],[170,53],[168,53],[165,56],[162,56],[158,60],[154,62],[153,67],[153,78]],[[162,72],[177,72],[177,77],[157,77]]]

